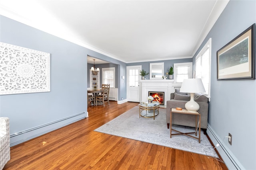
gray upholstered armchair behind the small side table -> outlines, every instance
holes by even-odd
[[[166,123],[168,129],[170,125],[171,108],[181,107],[182,109],[186,109],[185,104],[189,100],[190,96],[186,93],[184,94],[179,92],[179,90],[176,90],[176,93],[171,94],[171,100],[168,100],[166,104]],[[198,112],[201,114],[201,128],[204,130],[204,133],[206,133],[208,126],[208,98],[202,94],[195,93],[194,100],[200,106]],[[195,127],[195,122],[193,121],[194,119],[194,115],[174,113],[172,115],[172,124]]]

